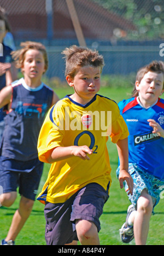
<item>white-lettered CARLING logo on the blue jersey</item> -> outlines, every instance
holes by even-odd
[[[137,146],[139,144],[147,143],[150,141],[156,141],[157,139],[160,139],[161,137],[157,135],[157,133],[144,133],[134,136],[134,146]]]

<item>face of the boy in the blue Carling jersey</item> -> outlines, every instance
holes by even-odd
[[[139,92],[139,99],[150,104],[157,101],[163,93],[163,73],[149,71],[140,81],[136,81],[136,90]]]

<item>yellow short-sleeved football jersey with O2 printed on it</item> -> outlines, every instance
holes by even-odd
[[[98,94],[85,106],[69,96],[58,101],[49,110],[40,131],[39,160],[48,162],[45,153],[56,147],[86,145],[93,153],[89,161],[73,156],[54,162],[38,200],[62,203],[89,183],[109,190],[112,179],[108,136],[113,143],[128,137],[127,126],[114,101]]]

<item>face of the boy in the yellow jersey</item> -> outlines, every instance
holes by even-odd
[[[101,86],[101,67],[80,67],[74,78],[69,75],[66,80],[74,88],[72,99],[80,104],[86,104],[97,94]]]

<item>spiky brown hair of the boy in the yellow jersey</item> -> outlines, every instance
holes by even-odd
[[[78,47],[77,45],[72,45],[70,48],[66,48],[62,51],[66,59],[66,71],[65,75],[70,75],[74,78],[75,73],[79,67],[93,66],[101,67],[104,66],[104,59],[102,55],[99,55],[98,51],[93,51],[88,48]]]

